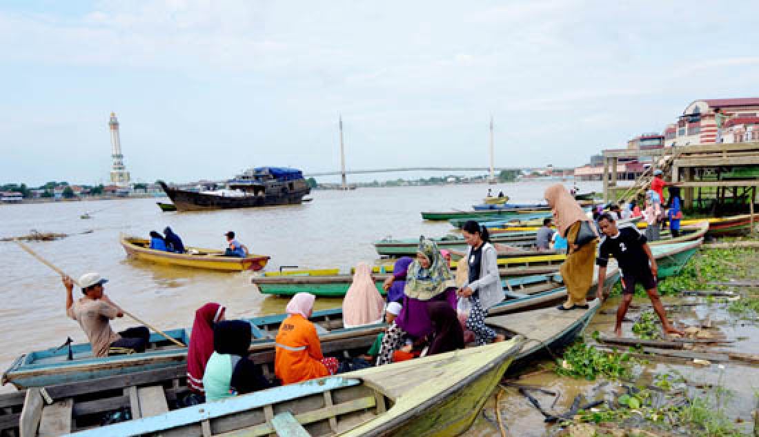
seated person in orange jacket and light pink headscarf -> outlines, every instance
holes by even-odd
[[[316,298],[298,293],[285,308],[288,317],[282,320],[274,339],[274,373],[283,385],[337,373],[337,358],[323,356],[317,329],[308,320]]]

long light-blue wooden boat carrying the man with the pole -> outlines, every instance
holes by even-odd
[[[596,275],[594,275],[595,281]],[[619,279],[616,263],[609,263],[603,288],[610,290]],[[566,297],[566,290],[561,286],[560,277],[554,275],[541,283],[525,283],[512,286],[506,292],[506,299],[490,309],[490,315],[501,315],[525,310],[553,306]],[[588,293],[595,295],[596,285],[591,285]],[[273,354],[273,339],[285,314],[248,319],[252,326],[253,341],[250,351],[253,353]],[[342,309],[323,310],[313,313],[310,320],[317,327],[325,354],[340,350],[351,344],[374,340],[376,334],[384,330],[383,324],[367,325],[355,328],[343,328]],[[187,344],[189,329],[173,329],[166,333]],[[72,360],[68,360],[65,347],[24,354],[14,360],[11,367],[2,375],[2,382],[11,382],[17,388],[55,385],[77,382],[106,376],[129,375],[148,369],[162,369],[184,363],[187,351],[175,347],[161,336],[151,335],[150,348],[141,354],[117,355],[96,358],[92,356],[90,344],[71,345]],[[361,343],[363,344],[363,343]],[[368,347],[368,345],[367,345]]]

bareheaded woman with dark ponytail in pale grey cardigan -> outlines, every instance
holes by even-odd
[[[505,297],[501,276],[498,272],[498,253],[490,244],[487,228],[474,220],[469,220],[461,228],[467,242],[467,253],[460,262],[468,266],[467,284],[458,290],[459,299],[468,299],[470,305],[467,329],[474,332],[477,346],[488,341],[502,341],[493,329],[485,325],[487,310],[501,303]]]

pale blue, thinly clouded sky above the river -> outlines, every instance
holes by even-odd
[[[0,183],[582,165],[754,97],[757,2],[0,2]],[[395,178],[393,175],[392,178]],[[364,179],[380,180],[378,174]],[[325,178],[329,181],[329,178]]]

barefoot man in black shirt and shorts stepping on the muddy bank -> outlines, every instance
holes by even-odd
[[[601,228],[601,232],[606,235],[601,242],[597,259],[599,266],[597,297],[599,299],[603,299],[603,279],[606,278],[606,264],[609,263],[609,256],[614,256],[619,265],[619,270],[621,270],[622,302],[619,303],[617,310],[616,326],[614,327],[616,335],[622,337],[622,319],[625,319],[627,309],[630,307],[637,282],[640,282],[646,289],[646,293],[653,304],[653,310],[657,312],[662,322],[664,332],[683,335],[666,318],[666,312],[657,291],[657,260],[651,254],[645,235],[638,232],[636,228],[628,226],[622,229],[617,228],[614,218],[609,214],[600,215],[598,226]]]

